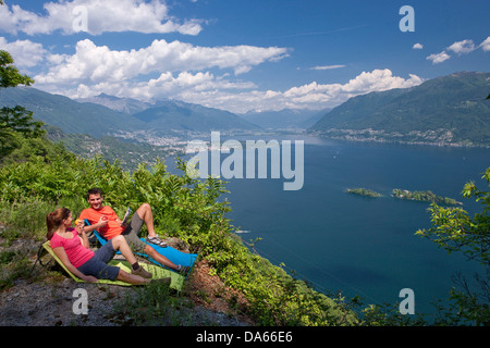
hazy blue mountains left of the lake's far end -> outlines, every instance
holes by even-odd
[[[257,125],[231,112],[182,101],[145,103],[102,95],[101,98],[79,102],[33,87],[0,90],[0,105],[16,104],[33,111],[36,120],[57,126],[64,133],[89,134],[94,137],[113,135],[121,130],[164,134],[173,130],[208,133],[259,129]]]

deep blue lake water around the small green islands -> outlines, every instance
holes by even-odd
[[[480,204],[461,196],[481,173],[490,150],[338,141],[294,136],[255,136],[254,140],[304,140],[304,185],[283,190],[284,178],[230,179],[232,219],[240,236],[262,240],[255,249],[274,264],[283,262],[319,290],[358,295],[366,303],[396,303],[400,290],[415,294],[417,313],[431,313],[433,300],[446,299],[456,272],[469,278],[479,265],[448,254],[415,236],[430,227],[429,203],[391,197],[393,188],[432,190],[464,202],[470,213]],[[235,139],[241,139],[236,137]],[[245,138],[242,138],[245,139]],[[203,139],[209,141],[209,139]],[[223,139],[222,139],[223,140]],[[221,153],[223,160],[229,154]],[[172,164],[169,164],[171,170]],[[365,187],[384,195],[346,194]]]

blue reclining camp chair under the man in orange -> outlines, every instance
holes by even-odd
[[[88,220],[85,219],[85,225],[88,226],[90,225],[90,223],[88,222]],[[97,237],[97,240],[100,243],[100,245],[105,245],[107,243],[107,240],[99,234],[99,232],[97,229],[93,231],[94,235]],[[169,259],[170,261],[172,261],[175,264],[181,264],[183,266],[187,266],[188,271],[187,273],[184,275],[185,278],[187,278],[187,275],[191,273],[194,263],[197,259],[197,253],[186,253],[186,252],[182,252],[175,248],[172,248],[171,246],[167,246],[167,247],[160,247],[157,246],[155,244],[148,243],[146,241],[145,238],[139,238],[143,243],[149,245],[151,248],[154,248],[158,253],[164,256],[167,259]],[[118,251],[118,253],[120,253],[120,251]],[[169,271],[171,271],[172,273],[176,273],[176,271],[171,270],[169,268],[167,268],[166,265],[159,263],[158,261],[154,260],[152,258],[150,258],[148,254],[146,253],[142,253],[142,252],[134,252],[137,256],[140,256],[147,260],[149,260],[150,262],[164,268]]]

